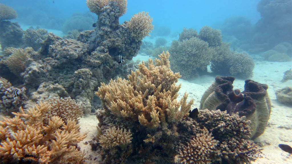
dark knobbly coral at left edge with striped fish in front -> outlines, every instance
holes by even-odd
[[[17,90],[17,94],[14,92]],[[19,107],[24,107],[27,97],[26,88],[15,88],[5,78],[0,77],[0,108],[1,114],[11,115],[11,112],[17,112]]]

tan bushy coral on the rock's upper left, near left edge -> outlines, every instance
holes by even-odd
[[[25,71],[27,67],[27,62],[29,59],[29,54],[33,53],[34,50],[31,47],[25,49],[22,48],[5,48],[4,54],[9,55],[6,59],[3,60],[3,63],[7,65],[12,73],[17,76],[20,76],[20,73]]]

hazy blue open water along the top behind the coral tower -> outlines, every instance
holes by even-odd
[[[149,12],[154,26],[166,26],[171,31],[182,31],[183,27],[199,29],[204,25],[214,26],[225,18],[241,16],[252,23],[260,19],[256,10],[259,0],[128,0],[128,10],[120,18],[127,21],[140,11]],[[50,19],[68,19],[73,13],[86,13],[89,9],[85,0],[1,0],[2,4],[13,7],[18,13],[16,21],[29,25],[46,25]],[[47,20],[47,21],[46,21]],[[64,22],[64,21],[62,21]],[[60,24],[61,25],[61,24]],[[56,25],[55,29],[60,29]]]

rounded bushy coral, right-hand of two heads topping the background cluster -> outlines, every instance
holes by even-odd
[[[212,29],[209,26],[204,26],[200,29],[199,38],[208,42],[210,47],[221,46],[222,44],[221,31]]]

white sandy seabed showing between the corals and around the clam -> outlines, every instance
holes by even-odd
[[[138,57],[138,56],[137,56]],[[145,60],[144,57],[140,56],[141,60]],[[254,76],[251,78],[259,83],[265,83],[269,86],[268,94],[272,102],[272,112],[268,121],[268,126],[265,129],[264,134],[256,138],[256,142],[260,142],[264,145],[262,148],[262,154],[264,156],[258,158],[253,163],[258,164],[288,164],[292,163],[292,155],[282,151],[278,144],[288,144],[292,146],[292,107],[280,104],[275,95],[275,91],[286,86],[292,87],[292,80],[282,83],[281,80],[284,75],[284,71],[287,71],[292,66],[291,62],[256,62],[254,69]],[[201,96],[205,90],[212,84],[215,77],[212,76],[201,76],[194,80],[185,81],[180,79],[178,83],[182,86],[179,91],[178,100],[183,96],[185,92],[189,94],[188,99],[193,98],[194,104],[192,108],[198,108],[200,105]],[[234,89],[244,90],[244,80],[235,79],[233,83]],[[98,119],[95,115],[84,116],[80,119],[81,133],[87,133],[86,139],[79,143],[81,150],[86,151],[87,156],[96,156],[96,152],[91,150],[89,144],[85,145],[84,142],[91,140],[91,138],[97,134],[96,126]],[[281,128],[290,127],[290,128]],[[92,160],[92,163],[98,163],[98,160]]]

